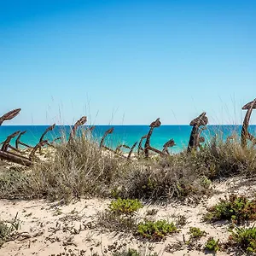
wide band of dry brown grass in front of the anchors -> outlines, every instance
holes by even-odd
[[[166,159],[127,161],[88,137],[61,143],[54,157],[29,171],[0,173],[1,198],[46,197],[69,201],[83,196],[120,196],[153,200],[200,198],[218,177],[256,174],[256,148],[238,140],[212,139],[200,150]]]

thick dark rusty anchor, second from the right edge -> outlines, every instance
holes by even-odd
[[[207,113],[203,112],[200,116],[193,119],[189,125],[193,126],[190,137],[189,137],[189,145],[188,152],[192,150],[192,148],[198,148],[201,142],[204,142],[204,137],[201,137],[201,131],[205,129],[205,127],[200,128],[201,126],[206,126],[208,124]]]

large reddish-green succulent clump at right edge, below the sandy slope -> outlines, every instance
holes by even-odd
[[[209,208],[204,218],[210,221],[229,219],[235,223],[256,219],[256,201],[250,201],[243,195],[232,194]]]

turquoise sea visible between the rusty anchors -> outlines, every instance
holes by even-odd
[[[5,140],[9,134],[15,131],[26,131],[26,134],[21,137],[23,143],[34,146],[38,143],[44,130],[48,125],[2,125],[0,126],[0,143]],[[86,129],[88,126],[82,126],[81,129]],[[140,140],[141,137],[148,133],[148,125],[97,125],[93,131],[93,138],[99,141],[110,127],[113,127],[113,134],[108,135],[106,143],[111,148],[115,148],[119,143],[125,143],[132,146],[133,143]],[[45,138],[50,140],[60,137],[64,134],[68,135],[70,126],[55,126],[54,131],[49,131]],[[151,145],[155,148],[162,149],[166,141],[174,139],[176,146],[172,148],[172,153],[177,153],[183,148],[187,148],[189,135],[192,127],[189,125],[161,125],[154,129],[151,137]],[[249,130],[253,135],[256,135],[256,125],[250,125]],[[218,134],[223,139],[230,136],[233,132],[241,133],[241,125],[207,125],[207,130],[202,132],[206,141]],[[15,139],[12,144],[15,143]],[[171,148],[170,148],[171,149]]]

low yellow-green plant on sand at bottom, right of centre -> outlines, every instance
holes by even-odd
[[[174,232],[177,232],[177,227],[166,220],[145,221],[137,225],[137,235],[151,241],[160,241]]]

